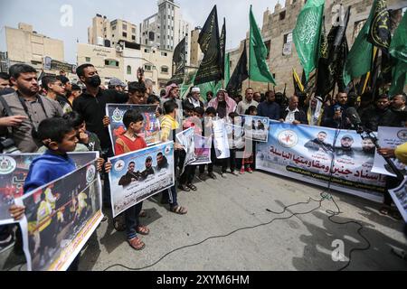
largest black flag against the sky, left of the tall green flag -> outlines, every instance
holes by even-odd
[[[214,5],[204,28],[199,34],[198,43],[204,53],[204,60],[196,73],[194,85],[222,79],[221,45],[219,37],[218,13]]]

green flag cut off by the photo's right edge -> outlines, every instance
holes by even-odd
[[[393,66],[393,82],[389,94],[395,96],[402,93],[404,85],[407,84],[407,13],[404,13],[402,22],[394,32],[389,52],[395,65]]]

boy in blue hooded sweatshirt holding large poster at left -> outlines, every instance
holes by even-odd
[[[75,163],[67,153],[75,150],[78,137],[77,131],[68,120],[62,117],[43,120],[38,126],[38,137],[48,150],[31,163],[24,182],[24,193],[29,193],[76,170]],[[102,165],[103,163],[98,163],[98,171],[101,170]],[[106,163],[106,171],[110,169],[111,163]],[[24,212],[24,207],[15,205],[10,207],[10,214],[15,220],[22,219]],[[69,271],[78,270],[79,259],[80,256],[75,258]]]

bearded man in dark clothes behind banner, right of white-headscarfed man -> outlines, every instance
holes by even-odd
[[[339,92],[336,95],[336,104],[327,107],[322,117],[322,126],[332,128],[351,128],[350,122],[347,121],[345,110],[347,108],[347,94]]]

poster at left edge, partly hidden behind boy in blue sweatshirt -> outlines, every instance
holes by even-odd
[[[0,225],[15,223],[8,208],[23,195],[24,182],[33,160],[42,154],[0,154]],[[99,152],[70,153],[77,168],[99,158]]]

